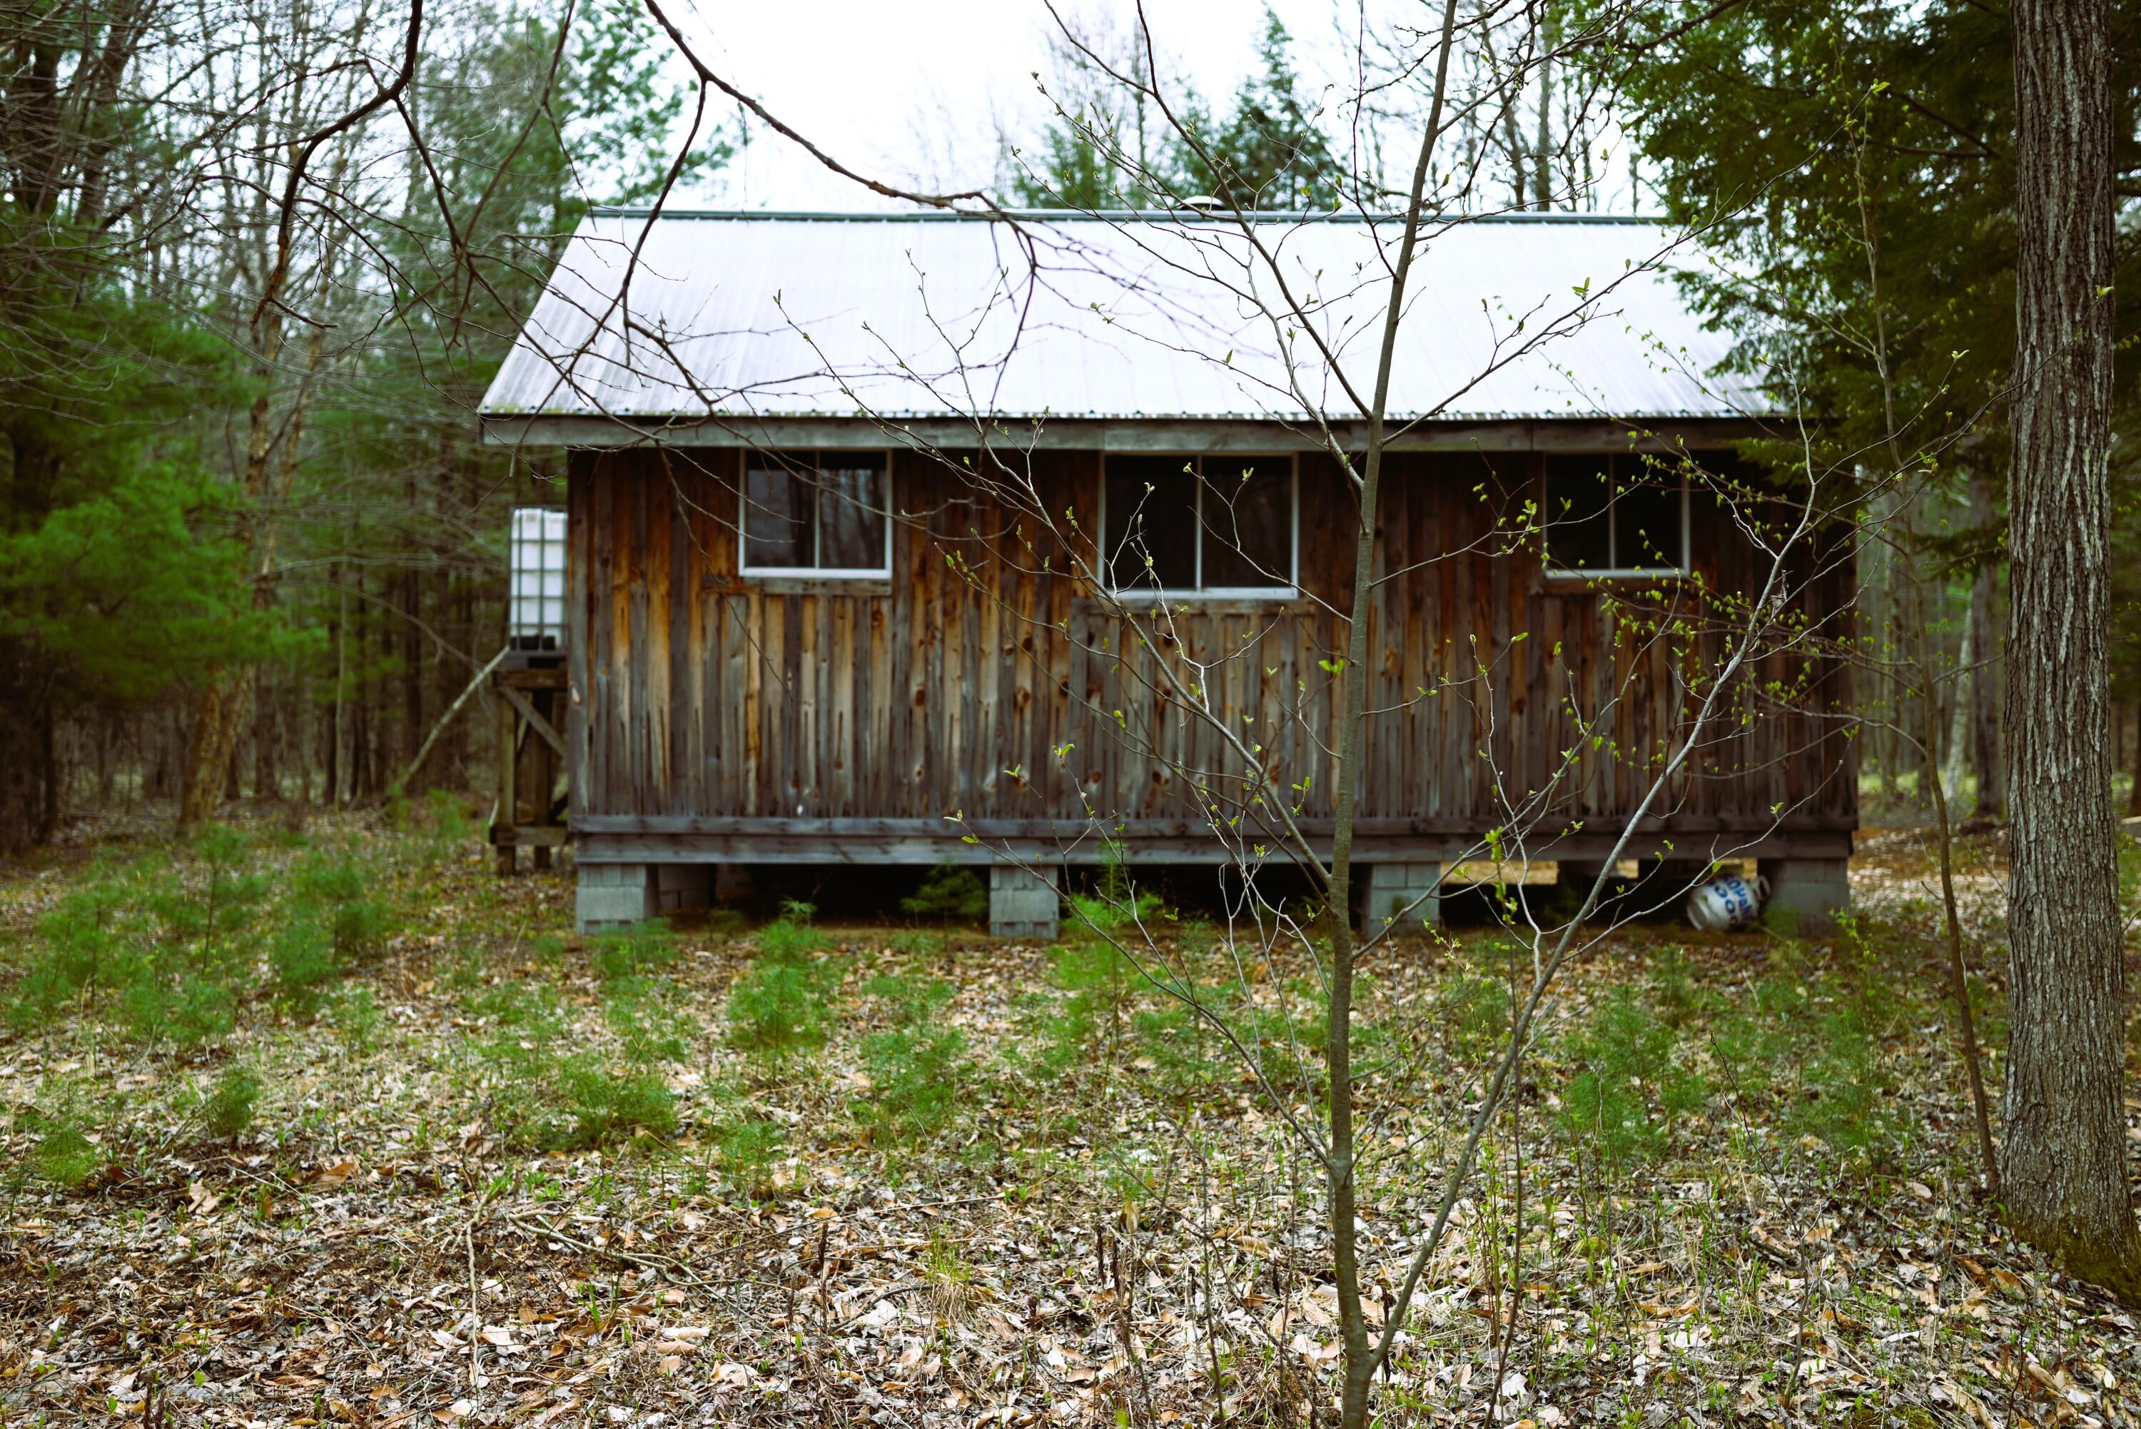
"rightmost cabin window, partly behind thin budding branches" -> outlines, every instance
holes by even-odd
[[[1687,482],[1625,452],[1546,458],[1546,568],[1563,576],[1687,574]]]

